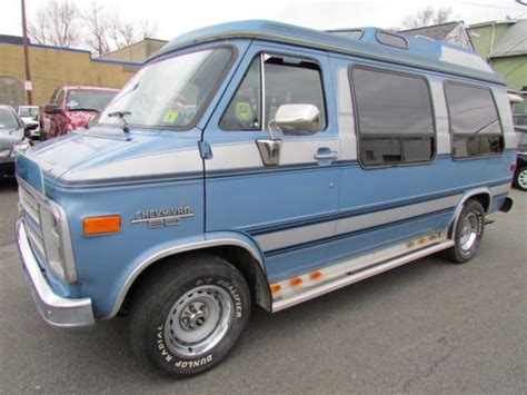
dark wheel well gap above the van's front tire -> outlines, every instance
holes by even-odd
[[[233,265],[247,282],[249,289],[251,292],[252,300],[258,305],[264,307],[267,310],[270,310],[270,293],[269,284],[267,283],[267,277],[261,269],[259,263],[255,257],[247,251],[246,249],[237,246],[218,246],[210,248],[201,248],[195,251],[187,251],[176,255],[170,255],[163,257],[157,261],[150,264],[141,274],[133,280],[132,285],[128,289],[128,293],[122,302],[122,305],[119,309],[119,314],[127,314],[130,309],[131,304],[133,303],[133,297],[137,294],[137,290],[140,288],[141,284],[151,276],[155,271],[162,270],[163,265],[177,265],[178,258],[182,256],[192,256],[197,254],[209,254],[221,257]]]

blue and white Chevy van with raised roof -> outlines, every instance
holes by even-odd
[[[188,376],[252,305],[470,260],[511,207],[515,147],[504,80],[474,52],[221,24],[148,59],[97,125],[18,157],[18,245],[46,322],[128,315],[138,355]]]

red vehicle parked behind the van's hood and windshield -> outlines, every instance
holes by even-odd
[[[113,99],[117,89],[96,87],[61,87],[41,107],[40,136],[42,140],[66,135],[83,127]]]

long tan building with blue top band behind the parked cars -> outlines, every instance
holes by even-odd
[[[121,88],[139,62],[92,59],[80,49],[29,45],[34,105],[47,103],[60,86],[84,85]],[[0,36],[0,103],[26,103],[23,45],[19,37]]]

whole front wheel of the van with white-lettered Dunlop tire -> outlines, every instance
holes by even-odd
[[[175,258],[160,264],[135,294],[131,346],[160,374],[182,378],[202,373],[233,347],[249,322],[250,305],[243,276],[227,260],[205,254]],[[211,340],[205,346],[183,339],[209,328],[205,338]]]

